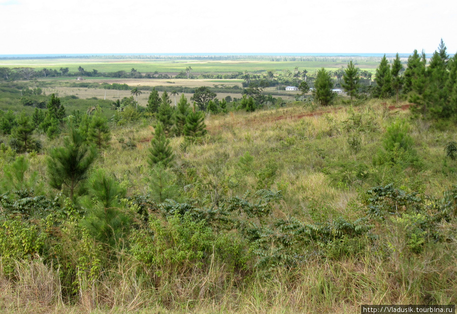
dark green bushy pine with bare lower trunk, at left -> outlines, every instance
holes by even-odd
[[[49,154],[49,185],[59,190],[65,187],[73,200],[76,187],[86,180],[95,158],[95,148],[88,146],[76,129],[71,129],[63,146],[52,149]]]

